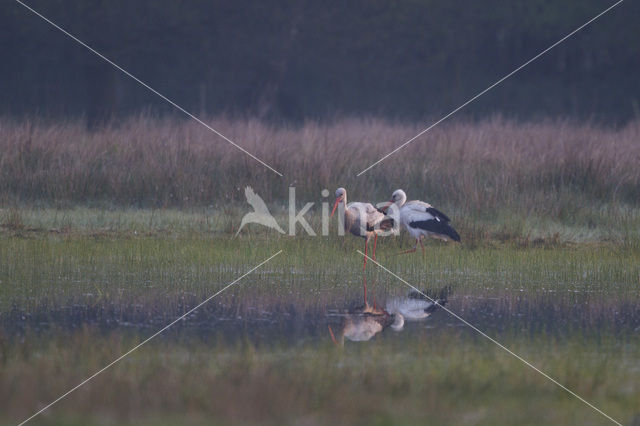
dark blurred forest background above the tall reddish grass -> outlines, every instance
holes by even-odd
[[[444,114],[613,4],[581,0],[28,3],[195,114],[300,121]],[[627,0],[465,109],[640,116],[640,2]],[[20,4],[0,6],[0,114],[89,125],[172,111]]]

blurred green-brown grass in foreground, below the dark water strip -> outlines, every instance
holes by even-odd
[[[156,341],[60,402],[35,424],[607,424],[600,414],[484,341],[432,330],[334,348]],[[9,342],[0,419],[9,423],[137,340],[90,330]],[[504,341],[623,423],[637,421],[637,344]],[[4,343],[6,345],[7,342]],[[73,369],[69,368],[73,366]],[[55,378],[55,379],[54,379]]]

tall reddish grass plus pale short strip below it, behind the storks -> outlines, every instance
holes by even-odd
[[[232,234],[250,210],[247,185],[287,229],[293,185],[298,208],[315,202],[316,232],[321,203],[332,201],[322,189],[345,186],[352,200],[376,202],[402,187],[452,217],[468,245],[640,241],[638,123],[453,122],[356,177],[420,126],[211,121],[285,178],[190,122],[140,116],[88,132],[0,120],[0,230]]]

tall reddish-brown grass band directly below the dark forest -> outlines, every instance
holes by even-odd
[[[79,123],[0,120],[0,197],[7,201],[209,206],[243,200],[252,185],[267,202],[346,186],[355,199],[410,197],[462,212],[497,211],[595,220],[588,211],[638,205],[640,123],[452,122],[356,174],[425,124],[379,119],[275,126],[208,120],[284,174],[278,177],[197,123],[131,118],[100,131]],[[600,212],[598,212],[600,214]]]

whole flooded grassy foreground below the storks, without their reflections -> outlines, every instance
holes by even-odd
[[[39,421],[602,421],[444,311],[399,334],[333,347],[325,313],[361,303],[357,239],[231,238],[178,225],[172,233],[136,234],[129,227],[135,214],[113,234],[94,234],[91,220],[82,228],[83,215],[70,217],[64,232],[23,230],[0,239],[2,422],[26,418],[280,249]],[[179,217],[184,223],[189,216]],[[638,415],[637,249],[436,241],[426,257],[392,256],[406,243],[383,240],[379,260],[418,288],[452,286],[452,310],[614,418]],[[381,302],[407,292],[368,269]]]

